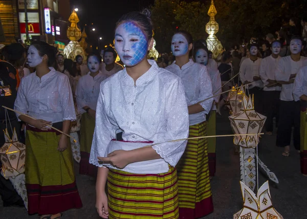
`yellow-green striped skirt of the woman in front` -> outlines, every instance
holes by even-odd
[[[179,218],[176,168],[159,174],[110,168],[107,191],[109,219]]]

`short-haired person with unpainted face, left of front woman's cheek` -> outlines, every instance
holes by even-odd
[[[117,53],[112,47],[107,47],[103,50],[104,65],[100,65],[100,71],[106,77],[112,76],[120,70],[123,70],[122,65],[115,62],[116,57]]]

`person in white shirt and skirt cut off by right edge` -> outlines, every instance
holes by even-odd
[[[301,173],[307,177],[307,66],[300,68],[294,80],[293,96],[300,100],[300,166]]]

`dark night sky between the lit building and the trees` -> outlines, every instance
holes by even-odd
[[[100,48],[112,43],[114,40],[114,30],[117,20],[130,11],[140,11],[149,8],[154,0],[71,0],[71,7],[78,8],[78,23],[81,30],[86,24],[85,31],[87,41],[91,41],[93,46]],[[93,25],[92,25],[93,23]],[[91,32],[95,28],[95,32]]]

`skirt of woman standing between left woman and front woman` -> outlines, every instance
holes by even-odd
[[[97,176],[97,166],[90,164],[93,135],[95,130],[95,119],[88,113],[83,113],[80,128],[80,168],[79,173],[91,177]]]

